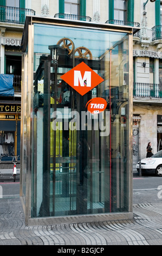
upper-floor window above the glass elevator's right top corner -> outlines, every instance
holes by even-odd
[[[127,20],[127,1],[114,0],[114,20]]]

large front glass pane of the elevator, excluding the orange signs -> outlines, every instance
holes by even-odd
[[[61,78],[81,62],[104,80],[83,96]],[[128,211],[128,71],[126,33],[34,25],[32,217]]]

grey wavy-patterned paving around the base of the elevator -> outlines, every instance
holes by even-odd
[[[162,202],[134,204],[133,220],[31,227],[20,198],[0,204],[0,245],[162,245]]]

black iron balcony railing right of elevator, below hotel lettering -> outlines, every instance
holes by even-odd
[[[134,83],[133,96],[162,98],[162,85],[156,83]]]

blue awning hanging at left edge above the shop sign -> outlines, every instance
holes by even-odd
[[[0,74],[0,96],[14,96],[14,75]]]

